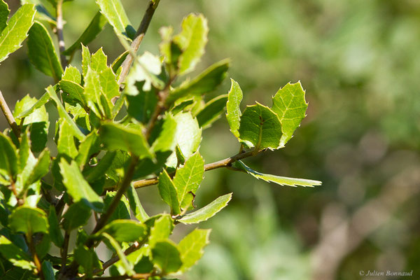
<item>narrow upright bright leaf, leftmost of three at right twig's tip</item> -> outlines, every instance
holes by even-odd
[[[226,103],[226,118],[230,126],[230,131],[235,137],[239,138],[239,125],[241,122],[241,104],[244,94],[242,93],[239,83],[234,79],[230,79],[231,85],[228,92],[228,102]]]

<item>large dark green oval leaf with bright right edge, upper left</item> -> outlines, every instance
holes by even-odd
[[[29,29],[28,56],[39,71],[58,81],[63,73],[61,64],[55,52],[52,38],[41,22],[34,22]]]

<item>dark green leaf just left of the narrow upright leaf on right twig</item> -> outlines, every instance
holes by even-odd
[[[227,101],[228,94],[223,94],[207,102],[206,106],[197,113],[198,125],[203,128],[210,127],[225,111]]]

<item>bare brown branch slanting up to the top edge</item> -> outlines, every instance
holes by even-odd
[[[155,10],[156,8],[158,8],[159,1],[160,0],[155,0],[155,1],[151,0],[148,3],[148,8],[146,12],[144,13],[139,29],[137,29],[136,38],[134,38],[134,41],[132,42],[132,45],[131,45],[132,52],[130,52],[130,55],[127,55],[127,57],[125,58],[123,62],[123,65],[121,66],[122,69],[120,73],[120,80],[118,80],[119,85],[121,85],[124,82],[125,77],[130,71],[130,67],[132,66],[132,63],[134,61],[134,57],[132,53],[137,54],[137,51],[139,50],[141,41],[143,41],[143,38],[144,38],[144,35],[146,34],[148,26],[151,24],[151,20],[153,18]]]

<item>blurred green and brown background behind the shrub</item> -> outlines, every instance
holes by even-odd
[[[18,8],[17,0],[6,2]],[[137,27],[147,1],[123,4]],[[93,0],[65,3],[67,45],[96,12]],[[323,186],[288,188],[229,170],[207,172],[198,205],[230,192],[234,198],[200,225],[213,228],[211,244],[183,279],[350,280],[364,279],[368,270],[412,269],[413,276],[401,279],[420,279],[420,1],[161,0],[140,52],[157,55],[158,29],[179,30],[191,12],[204,13],[210,27],[197,72],[231,57],[243,105],[271,104],[289,81],[306,89],[308,116],[286,148],[246,163]],[[109,62],[123,52],[109,26],[89,46],[102,45]],[[9,104],[27,93],[41,97],[52,83],[26,51],[0,66]],[[80,53],[73,61],[79,63]],[[227,79],[209,99],[229,86]],[[3,130],[6,121],[0,122]],[[204,132],[200,152],[212,162],[238,149],[221,118]],[[156,188],[138,193],[149,214],[165,209]],[[174,239],[190,230],[181,227]]]

